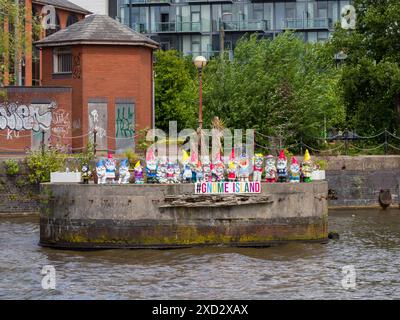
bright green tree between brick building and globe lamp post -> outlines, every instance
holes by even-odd
[[[157,51],[155,57],[156,127],[168,132],[169,121],[177,121],[178,130],[193,128],[198,110],[193,63],[175,50]]]

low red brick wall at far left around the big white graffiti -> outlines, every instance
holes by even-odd
[[[36,103],[56,102],[57,107],[52,114],[51,141],[60,142],[64,145],[71,145],[72,132],[71,106],[72,89],[68,87],[8,87],[7,101],[0,100],[0,103],[7,105],[27,105]],[[1,105],[0,104],[0,105]],[[0,130],[0,153],[14,154],[23,153],[31,147],[32,131],[15,131],[8,128]]]

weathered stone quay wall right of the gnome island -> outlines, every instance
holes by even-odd
[[[326,179],[336,200],[331,207],[378,206],[381,190],[399,204],[400,156],[326,157]]]

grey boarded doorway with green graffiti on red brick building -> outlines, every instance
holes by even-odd
[[[118,152],[134,147],[134,106],[131,103],[121,103],[115,106],[115,138]]]

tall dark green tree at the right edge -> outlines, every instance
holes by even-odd
[[[348,55],[341,78],[347,124],[361,134],[400,129],[400,2],[355,0],[355,31],[330,45]]]

